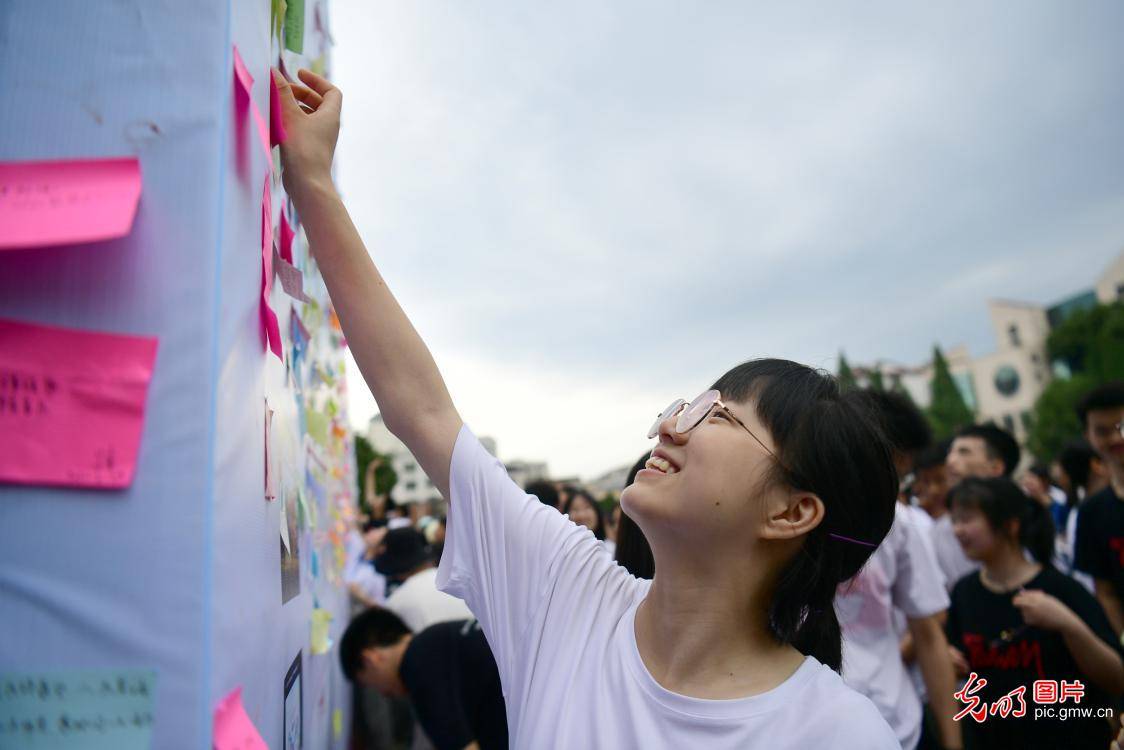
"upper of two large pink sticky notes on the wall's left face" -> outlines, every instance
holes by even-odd
[[[139,199],[135,157],[0,164],[0,250],[124,237]]]

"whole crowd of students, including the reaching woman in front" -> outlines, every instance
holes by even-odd
[[[659,414],[606,524],[464,425],[332,187],[342,96],[300,80],[277,78],[282,178],[384,423],[448,501],[353,539],[375,606],[343,670],[371,733],[401,730],[372,747],[1108,747],[1124,386],[1084,399],[1087,448],[1024,475],[994,425],[934,446],[905,398],[751,360]]]

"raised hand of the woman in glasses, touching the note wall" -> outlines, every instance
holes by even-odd
[[[299,204],[308,189],[332,186],[343,94],[311,71],[300,70],[297,76],[307,85],[289,83],[273,69],[287,135],[281,144],[281,179],[285,191]]]

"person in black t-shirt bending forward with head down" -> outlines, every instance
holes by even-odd
[[[339,661],[348,680],[408,697],[437,750],[506,750],[499,671],[477,621],[413,633],[395,613],[372,607],[347,626]]]

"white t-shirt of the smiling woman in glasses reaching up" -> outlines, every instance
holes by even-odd
[[[870,701],[810,657],[747,698],[664,689],[644,667],[633,625],[651,581],[526,495],[468,427],[450,490],[437,582],[480,620],[513,748],[898,748]]]

